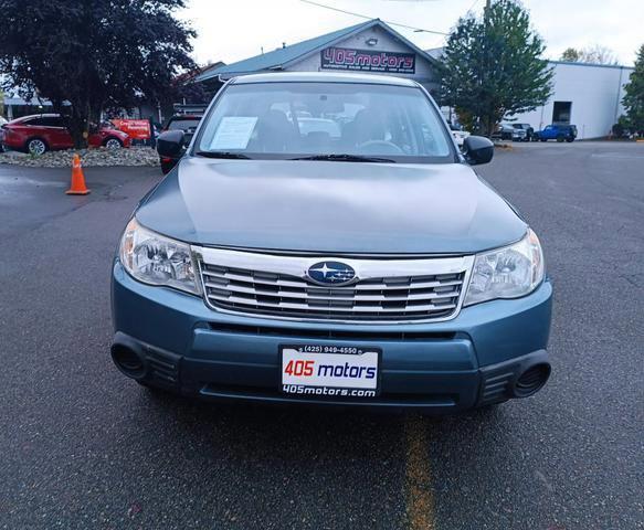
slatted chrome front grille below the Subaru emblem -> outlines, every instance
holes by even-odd
[[[215,309],[292,318],[395,321],[452,316],[460,307],[465,271],[369,277],[344,287],[213,263],[201,263],[201,276],[207,303]]]

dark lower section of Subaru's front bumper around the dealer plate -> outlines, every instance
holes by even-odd
[[[377,398],[307,398],[281,392],[279,365],[276,362],[249,365],[186,358],[120,332],[116,333],[114,343],[126,344],[139,356],[142,371],[139,372],[140,377],[134,379],[187,396],[217,401],[418,409],[439,413],[531,395],[540,390],[550,374],[548,353],[539,350],[473,370],[383,370],[382,391]],[[521,375],[535,367],[542,369],[542,381],[537,382],[534,391],[518,395],[516,389]],[[131,373],[125,373],[133,377]],[[239,381],[243,381],[243,384]]]

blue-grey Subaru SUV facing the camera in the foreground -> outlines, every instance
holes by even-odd
[[[296,104],[350,121],[312,135],[282,110]],[[113,263],[125,375],[202,399],[426,412],[548,380],[539,240],[471,167],[494,145],[457,149],[418,83],[242,76],[190,146],[169,130],[157,148],[178,163]]]

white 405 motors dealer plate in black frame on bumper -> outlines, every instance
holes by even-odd
[[[279,346],[279,388],[289,395],[369,399],[380,393],[379,348]]]

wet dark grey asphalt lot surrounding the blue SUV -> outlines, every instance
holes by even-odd
[[[644,528],[644,144],[481,172],[541,237],[553,375],[451,417],[158,396],[109,360],[119,232],[160,178],[0,166],[0,528]]]

